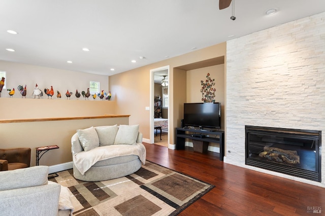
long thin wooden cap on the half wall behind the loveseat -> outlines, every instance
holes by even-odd
[[[105,119],[105,118],[123,118],[130,115],[111,115],[104,116],[81,116],[81,117],[62,117],[62,118],[39,118],[39,119],[8,119],[0,120],[0,123],[18,123],[18,122],[46,122],[46,121],[62,121],[62,120],[82,120],[82,119]]]

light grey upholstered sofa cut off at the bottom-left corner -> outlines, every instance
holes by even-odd
[[[48,181],[48,166],[0,172],[1,215],[72,215],[69,189]]]

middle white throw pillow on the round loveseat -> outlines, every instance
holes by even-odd
[[[114,145],[115,136],[118,130],[117,125],[105,126],[105,127],[95,127],[95,130],[100,139],[100,146]]]

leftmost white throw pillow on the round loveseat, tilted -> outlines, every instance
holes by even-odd
[[[85,152],[100,146],[100,140],[94,127],[77,130],[77,134]]]

